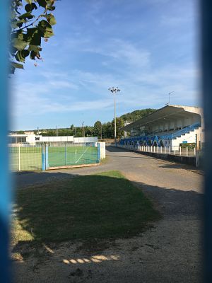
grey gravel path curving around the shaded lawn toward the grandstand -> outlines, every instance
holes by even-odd
[[[102,166],[16,176],[17,187],[119,170],[153,200],[163,219],[130,239],[42,246],[15,263],[16,282],[200,282],[201,184],[195,168],[108,148]],[[41,256],[42,255],[42,256]]]

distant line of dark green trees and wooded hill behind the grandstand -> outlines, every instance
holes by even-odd
[[[124,135],[121,128],[124,127],[125,122],[134,122],[146,115],[155,112],[155,109],[147,108],[143,110],[135,110],[117,117],[117,138]],[[33,130],[35,134],[37,130]],[[24,131],[18,131],[17,134],[24,134]],[[74,127],[71,125],[67,128],[60,129],[39,129],[39,134],[43,137],[52,136],[74,136],[74,137],[93,137],[97,136],[99,139],[113,139],[114,138],[114,120],[112,122],[102,123],[96,121],[93,126]]]

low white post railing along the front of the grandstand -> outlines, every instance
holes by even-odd
[[[196,147],[189,146],[140,146],[131,144],[117,144],[117,147],[131,151],[153,152],[155,154],[171,154],[178,156],[196,156]]]

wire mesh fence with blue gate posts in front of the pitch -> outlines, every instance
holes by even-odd
[[[42,143],[8,146],[11,171],[36,171],[100,162],[96,143]]]

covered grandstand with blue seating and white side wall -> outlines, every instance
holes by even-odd
[[[204,142],[203,110],[199,107],[166,105],[122,128],[129,137],[121,145],[170,146]]]

